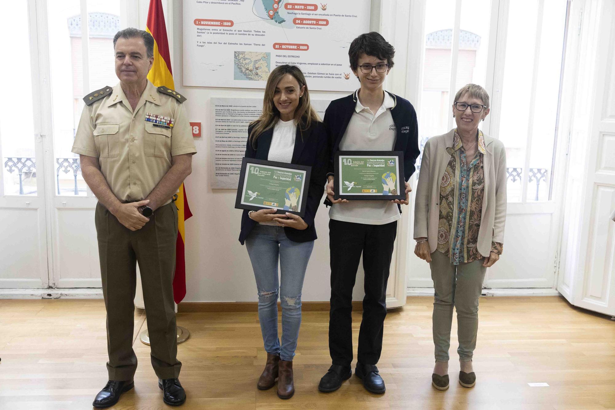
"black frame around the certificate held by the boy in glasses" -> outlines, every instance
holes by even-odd
[[[399,182],[398,195],[382,195],[382,194],[361,194],[361,195],[344,195],[343,190],[340,189],[341,175],[339,169],[339,157],[340,156],[394,156],[397,157],[397,181]],[[333,192],[335,195],[333,199],[348,199],[352,201],[356,200],[375,200],[375,201],[394,201],[400,199],[401,201],[406,199],[406,186],[405,186],[405,174],[403,172],[403,151],[336,151],[333,155],[333,164],[335,167],[335,175],[333,177]],[[401,179],[400,179],[401,178]]]

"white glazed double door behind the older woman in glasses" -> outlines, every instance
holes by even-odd
[[[556,124],[567,3],[446,3],[425,3],[421,150],[429,137],[454,127],[450,107],[459,88],[470,82],[485,87],[491,113],[481,128],[506,147],[509,203],[504,253],[484,286],[554,287],[561,195],[554,183],[561,150]],[[431,287],[429,265],[412,252],[408,259],[408,287]]]

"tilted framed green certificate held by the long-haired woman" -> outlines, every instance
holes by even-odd
[[[303,217],[312,167],[245,158],[241,164],[235,207],[277,209],[276,214]]]

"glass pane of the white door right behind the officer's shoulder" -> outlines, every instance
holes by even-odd
[[[113,36],[119,30],[119,0],[88,1],[89,85],[84,85],[81,2],[49,7],[55,195],[87,195],[79,155],[71,153],[84,103],[94,89],[114,86]]]

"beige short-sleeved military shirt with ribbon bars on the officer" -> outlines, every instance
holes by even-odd
[[[72,151],[98,158],[117,199],[141,201],[169,171],[172,156],[196,153],[190,123],[173,90],[148,81],[135,111],[120,84],[107,90],[84,107]]]

